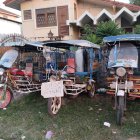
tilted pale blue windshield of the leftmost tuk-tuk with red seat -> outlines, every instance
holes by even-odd
[[[18,51],[16,50],[8,50],[4,53],[4,55],[0,59],[0,65],[5,68],[11,68],[13,63],[18,57]]]

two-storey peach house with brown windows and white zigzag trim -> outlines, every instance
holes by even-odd
[[[115,0],[6,0],[6,6],[21,10],[23,35],[27,38],[63,36],[78,39],[85,24],[96,26],[112,20],[127,32],[140,24],[140,6]]]

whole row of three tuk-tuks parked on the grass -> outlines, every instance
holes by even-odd
[[[95,73],[104,67],[101,75],[106,79],[102,81],[106,93],[114,96],[116,120],[121,125],[127,99],[140,98],[140,35],[110,36],[103,42],[106,58],[98,45],[86,40],[12,46],[0,59],[0,108],[7,107],[12,96],[40,91],[48,99],[48,113],[56,115],[65,95],[75,98],[86,92],[94,97]],[[100,63],[101,56],[104,63]]]

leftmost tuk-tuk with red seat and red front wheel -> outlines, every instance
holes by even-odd
[[[3,54],[0,59],[0,109],[7,107],[12,97],[41,90],[43,74],[41,78],[38,74],[39,71],[43,73],[45,63],[42,50],[41,44],[30,42],[11,46]]]

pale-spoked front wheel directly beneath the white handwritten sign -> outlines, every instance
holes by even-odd
[[[48,99],[48,113],[54,116],[61,108],[61,97],[53,97]]]

